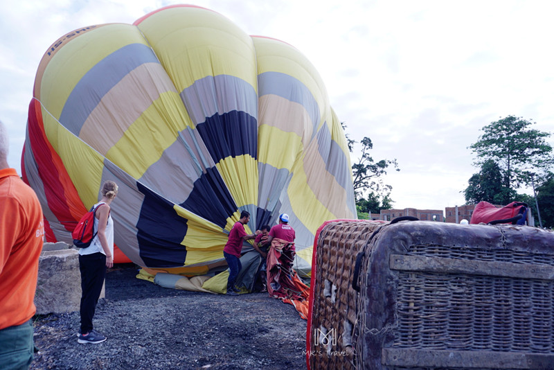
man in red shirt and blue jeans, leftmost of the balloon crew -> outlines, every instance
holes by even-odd
[[[254,234],[247,234],[244,231],[244,224],[247,224],[250,220],[250,213],[242,211],[240,213],[240,220],[235,222],[233,228],[229,232],[229,240],[223,248],[223,256],[227,265],[229,265],[229,279],[227,279],[227,294],[235,295],[239,292],[235,288],[235,281],[237,280],[238,273],[242,270],[240,264],[240,252],[242,252],[242,241],[256,238],[259,231]]]

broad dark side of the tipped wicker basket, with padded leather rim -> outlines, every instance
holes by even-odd
[[[357,369],[554,369],[554,234],[389,224],[359,276]]]

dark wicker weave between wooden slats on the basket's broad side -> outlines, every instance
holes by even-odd
[[[554,265],[552,255],[440,245],[413,245],[407,255]],[[400,272],[398,277],[393,346],[554,351],[552,280],[425,272]]]

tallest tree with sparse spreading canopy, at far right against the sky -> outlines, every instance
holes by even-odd
[[[534,122],[507,116],[483,127],[483,134],[470,148],[477,155],[476,165],[492,160],[498,164],[503,187],[508,191],[530,184],[530,173],[546,174],[554,164],[552,147],[546,142],[549,132],[530,128]]]

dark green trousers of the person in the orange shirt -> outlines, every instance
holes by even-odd
[[[33,362],[33,324],[9,326],[0,330],[0,369],[28,369]]]

